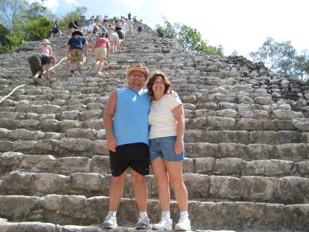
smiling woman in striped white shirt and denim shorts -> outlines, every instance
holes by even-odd
[[[153,229],[172,229],[170,219],[170,187],[174,189],[175,197],[181,211],[181,218],[175,230],[190,230],[190,220],[187,213],[187,188],[183,182],[183,161],[185,151],[183,132],[185,131],[185,114],[179,97],[167,94],[170,81],[163,72],[155,72],[147,83],[152,102],[148,122],[150,164],[158,183],[159,200],[162,219],[153,224]]]

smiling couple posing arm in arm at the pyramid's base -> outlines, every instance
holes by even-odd
[[[128,87],[115,89],[104,109],[104,128],[110,154],[112,181],[109,212],[102,227],[117,227],[117,207],[130,167],[139,208],[136,228],[148,228],[150,220],[147,215],[146,175],[149,173],[150,161],[158,184],[162,211],[160,222],[153,224],[152,229],[172,229],[169,188],[171,182],[181,211],[181,218],[175,229],[190,230],[187,189],[182,176],[185,157],[183,104],[175,92],[170,92],[171,83],[162,72],[152,74],[147,89],[142,89],[148,80],[148,74],[147,67],[140,64],[129,65],[126,70]]]

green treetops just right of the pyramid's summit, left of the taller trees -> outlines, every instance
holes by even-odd
[[[175,39],[185,50],[196,54],[223,55],[223,48],[221,45],[219,45],[218,48],[208,45],[208,41],[203,41],[201,33],[195,28],[181,25],[180,23],[174,23],[174,25],[172,25],[166,19],[164,20],[164,26],[157,24],[155,28],[155,31],[160,37]]]

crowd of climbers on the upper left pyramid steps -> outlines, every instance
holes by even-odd
[[[95,56],[94,71],[95,75],[102,74],[105,59],[110,55],[111,50],[117,52],[121,50],[121,46],[126,41],[126,34],[133,34],[133,25],[136,23],[136,17],[131,19],[131,14],[128,14],[128,20],[124,17],[121,20],[114,17],[113,23],[110,24],[108,17],[94,16],[88,22],[88,26],[82,27],[80,25],[80,18],[76,21],[71,18],[67,25],[67,36],[69,42],[67,43],[67,60],[70,62],[69,70],[71,76],[74,76],[75,64],[77,63],[77,70],[82,73],[82,65],[87,56],[89,47],[92,47],[91,56]],[[143,20],[137,22],[137,30],[140,35],[144,28]],[[58,21],[52,25],[51,39],[54,34],[59,33],[60,37],[62,32],[59,29]],[[30,68],[32,70],[32,84],[39,83],[43,79],[43,72],[47,72],[47,80],[50,80],[49,65],[52,63],[56,65],[56,56],[52,54],[52,48],[49,45],[48,39],[43,40],[44,46],[40,54],[33,54],[29,58]],[[48,48],[48,49],[47,49]],[[47,57],[49,56],[49,58]]]

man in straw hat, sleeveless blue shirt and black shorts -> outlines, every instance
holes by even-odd
[[[128,66],[126,69],[128,87],[115,89],[108,98],[104,110],[104,128],[112,172],[109,212],[102,223],[104,229],[117,227],[116,212],[122,198],[128,167],[130,167],[135,199],[139,208],[139,221],[136,228],[148,228],[146,175],[149,173],[150,95],[148,89],[142,89],[148,73],[148,68],[140,64]],[[115,112],[117,113],[113,117]]]

